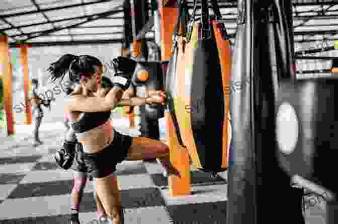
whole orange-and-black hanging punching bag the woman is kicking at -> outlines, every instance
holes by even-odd
[[[221,24],[210,24],[208,3],[202,1],[199,22],[196,8],[197,1],[188,35],[178,38],[177,120],[194,168],[217,173],[228,168],[229,93],[225,87],[229,86],[230,47],[222,35],[224,28],[213,29]],[[208,131],[212,131],[212,141]]]

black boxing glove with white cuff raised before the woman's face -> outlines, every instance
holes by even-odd
[[[117,57],[109,61],[108,66],[113,75],[113,85],[122,90],[129,88],[137,62],[128,57]]]

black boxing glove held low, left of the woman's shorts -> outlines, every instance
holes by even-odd
[[[77,141],[64,140],[62,148],[57,151],[54,160],[64,170],[68,170],[73,164],[75,157],[75,146]]]

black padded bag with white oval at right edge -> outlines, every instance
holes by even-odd
[[[332,79],[283,81],[276,105],[282,168],[335,193],[338,184],[330,170],[338,156],[337,85]]]

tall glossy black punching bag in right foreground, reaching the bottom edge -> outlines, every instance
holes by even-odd
[[[290,187],[290,178],[278,166],[274,150],[277,147],[274,130],[275,105],[280,93],[278,80],[289,77],[290,81],[292,71],[286,68],[288,65],[284,66],[288,64],[286,60],[291,59],[283,56],[283,52],[290,55],[292,52],[282,43],[289,28],[282,26],[278,30],[276,27],[280,24],[274,20],[278,13],[292,12],[287,12],[280,3],[277,6],[276,2],[238,2],[230,83],[240,88],[233,88],[230,94],[233,134],[232,168],[228,173],[228,224],[304,223],[300,209],[302,190]],[[266,197],[277,192],[277,201]],[[282,210],[287,215],[281,215]]]

